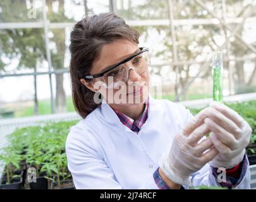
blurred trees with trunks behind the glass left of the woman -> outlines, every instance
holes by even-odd
[[[1,0],[0,22],[42,22],[42,8],[35,9],[35,18],[30,18],[30,3],[24,0]],[[46,0],[47,20],[51,22],[71,22],[73,17],[67,16],[64,0]],[[41,2],[42,3],[42,2]],[[55,4],[55,5],[54,5]],[[76,4],[71,1],[71,4]],[[57,8],[57,9],[56,9]],[[53,69],[64,68],[66,52],[66,32],[64,28],[50,29],[47,34],[43,28],[6,28],[0,29],[0,73],[15,73],[16,70],[25,69],[29,72],[40,71],[45,68],[46,44],[45,37],[50,40],[51,65]],[[29,69],[29,70],[28,70]],[[24,71],[24,70],[23,70]],[[37,77],[38,78],[38,77]],[[60,112],[64,107],[63,74],[56,74],[56,111]],[[34,78],[34,90],[37,90],[36,77]],[[37,94],[34,95],[35,114],[37,112]],[[61,102],[61,101],[62,102]],[[51,109],[48,108],[48,109]],[[27,111],[30,113],[31,111]]]

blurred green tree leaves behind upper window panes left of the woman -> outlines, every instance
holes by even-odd
[[[73,21],[64,14],[64,1],[59,1],[58,12],[52,10],[51,0],[46,0],[47,18],[54,22]],[[28,18],[29,9],[23,0],[0,1],[0,21],[3,22],[27,22],[41,21],[42,11],[37,9],[37,18]],[[12,12],[15,11],[15,12]],[[51,30],[52,42],[56,44],[57,50],[51,50],[52,66],[55,69],[63,68],[65,50],[65,32],[63,29]],[[35,68],[46,60],[46,47],[44,42],[44,30],[42,28],[20,28],[0,30],[0,50],[3,56],[11,59],[18,59],[16,69]],[[0,69],[7,71],[7,60],[0,59]]]

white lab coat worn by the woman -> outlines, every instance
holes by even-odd
[[[68,169],[76,189],[158,189],[153,173],[159,160],[191,118],[183,105],[149,96],[147,121],[136,134],[103,100],[101,107],[71,128],[66,140]],[[192,182],[219,186],[208,163],[192,175]],[[250,188],[248,168],[236,188]]]

